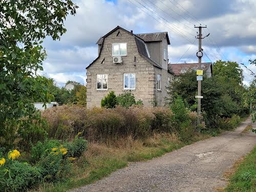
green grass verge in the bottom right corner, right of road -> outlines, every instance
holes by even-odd
[[[227,192],[254,192],[256,191],[256,146],[237,166],[231,176],[230,183],[225,188]]]

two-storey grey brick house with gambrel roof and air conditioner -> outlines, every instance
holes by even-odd
[[[164,105],[168,71],[167,32],[133,34],[119,26],[98,41],[98,57],[87,69],[87,107],[100,106],[110,91],[131,91],[144,106]]]

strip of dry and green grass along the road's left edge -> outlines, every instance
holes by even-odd
[[[145,161],[160,157],[187,144],[207,139],[207,134],[197,134],[189,142],[181,142],[175,134],[155,134],[144,140],[124,138],[118,143],[89,143],[89,148],[74,163],[69,179],[55,183],[44,183],[31,191],[60,192],[90,184],[117,169],[127,166],[129,162]]]

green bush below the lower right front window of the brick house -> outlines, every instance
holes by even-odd
[[[136,102],[134,95],[131,92],[126,92],[118,95],[117,104],[124,108],[129,108],[132,105],[143,105],[143,102],[141,99]]]

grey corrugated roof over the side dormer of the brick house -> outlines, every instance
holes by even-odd
[[[145,42],[162,41],[166,37],[167,43],[168,45],[170,45],[170,40],[167,32],[140,33],[136,34],[136,36],[142,38]]]

